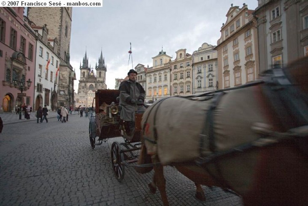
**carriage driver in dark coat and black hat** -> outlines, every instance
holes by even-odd
[[[121,120],[127,121],[130,131],[128,135],[133,135],[135,130],[135,109],[144,111],[143,106],[145,91],[140,83],[136,82],[137,72],[134,69],[129,70],[128,80],[121,82],[120,90],[120,105]],[[141,104],[140,104],[141,103]]]

